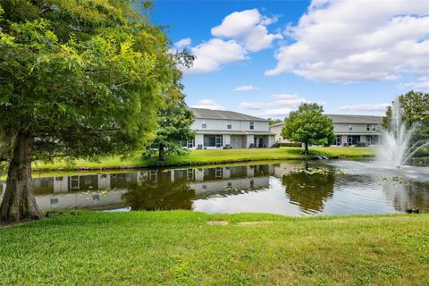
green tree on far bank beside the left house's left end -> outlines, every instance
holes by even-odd
[[[182,143],[195,136],[190,125],[194,122],[194,115],[184,102],[180,94],[158,112],[158,128],[155,138],[147,145],[147,156],[158,151],[158,160],[164,161],[166,154],[181,154],[184,151]]]

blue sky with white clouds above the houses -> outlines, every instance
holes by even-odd
[[[183,68],[189,106],[284,118],[300,104],[327,114],[384,114],[429,91],[429,0],[155,0],[151,21]]]

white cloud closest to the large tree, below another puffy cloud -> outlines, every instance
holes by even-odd
[[[191,68],[185,73],[204,73],[219,71],[223,64],[239,62],[247,59],[246,51],[233,40],[224,41],[220,38],[212,38],[208,42],[191,48],[196,56]]]

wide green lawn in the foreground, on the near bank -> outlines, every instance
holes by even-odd
[[[427,285],[427,273],[429,214],[78,212],[0,228],[3,285]]]

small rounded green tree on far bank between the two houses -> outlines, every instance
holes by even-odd
[[[333,124],[323,112],[321,105],[300,105],[298,111],[291,112],[289,118],[285,119],[282,137],[304,143],[306,155],[309,144],[330,144],[334,139]]]

